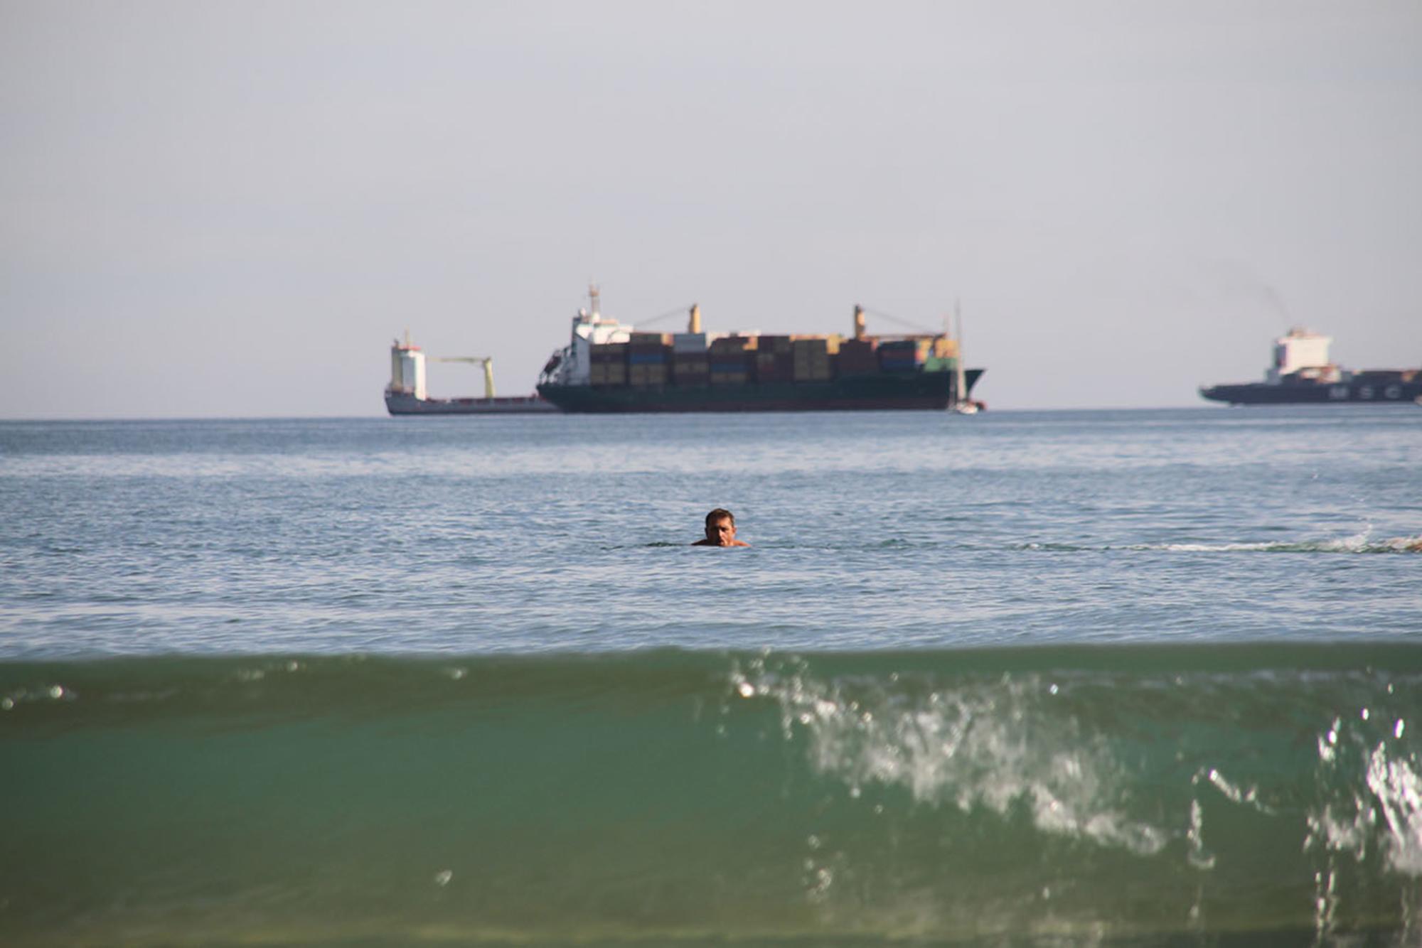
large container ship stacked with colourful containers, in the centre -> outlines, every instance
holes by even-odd
[[[876,337],[855,307],[853,335],[638,333],[603,317],[597,287],[573,317],[538,391],[566,412],[732,412],[984,408],[971,399],[981,368],[964,370],[946,334]]]

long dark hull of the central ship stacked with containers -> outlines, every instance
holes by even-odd
[[[966,370],[967,389],[983,374]],[[742,385],[539,385],[539,395],[566,412],[747,412],[747,411],[941,411],[953,398],[951,372],[882,372],[825,382]]]

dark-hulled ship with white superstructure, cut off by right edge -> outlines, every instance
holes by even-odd
[[[1422,404],[1422,370],[1371,368],[1349,372],[1328,361],[1331,337],[1294,328],[1274,340],[1274,364],[1263,382],[1200,387],[1200,395],[1230,405]]]

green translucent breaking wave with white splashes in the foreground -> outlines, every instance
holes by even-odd
[[[0,667],[6,944],[1413,944],[1422,648]]]

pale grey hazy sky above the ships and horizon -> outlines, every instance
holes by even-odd
[[[6,418],[383,414],[405,328],[523,394],[593,277],[961,300],[994,408],[1422,365],[1416,0],[0,0],[0,168]]]

